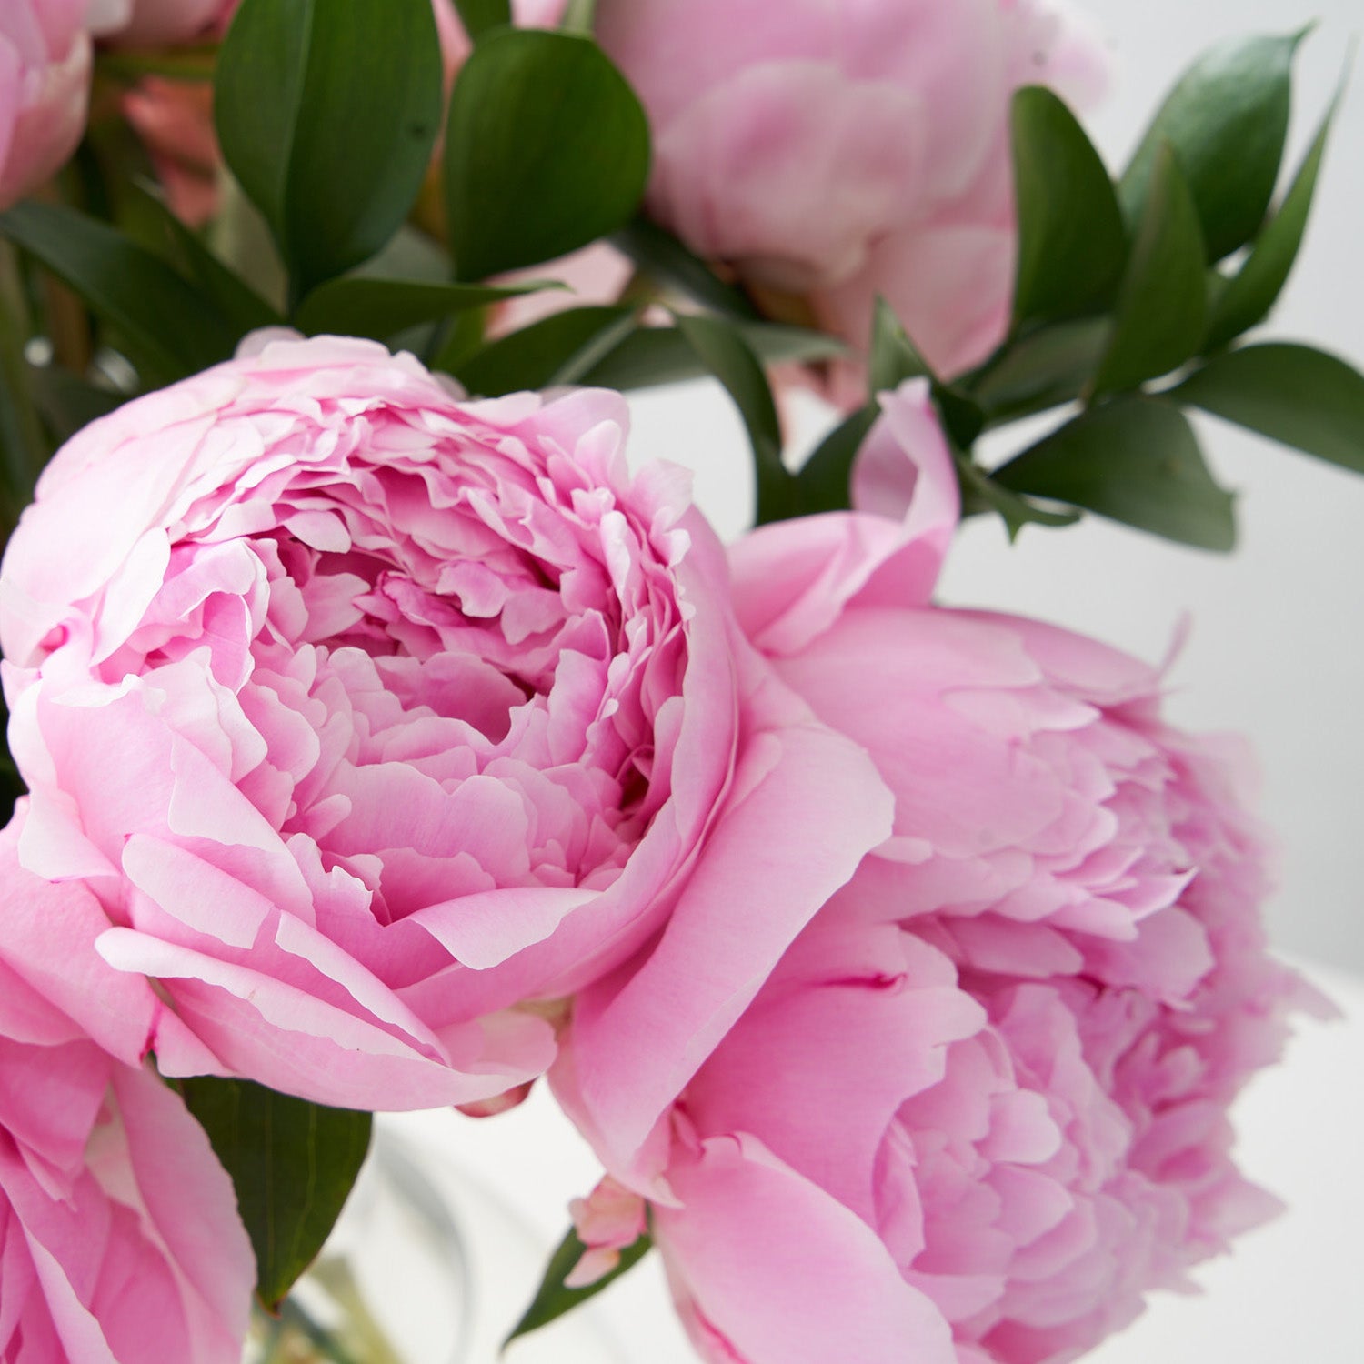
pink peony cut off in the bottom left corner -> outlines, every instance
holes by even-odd
[[[162,1005],[97,955],[100,902],[20,869],[23,817],[0,833],[0,1360],[237,1364],[232,1183],[142,1064]]]

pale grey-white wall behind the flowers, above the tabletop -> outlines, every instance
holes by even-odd
[[[1211,42],[1320,20],[1299,59],[1289,164],[1296,165],[1364,30],[1360,0],[1079,0],[1113,37],[1120,70],[1090,120],[1120,166],[1168,86]],[[1364,90],[1345,100],[1299,267],[1267,334],[1364,364]],[[726,537],[752,517],[746,446],[711,385],[641,396],[634,454],[693,468],[697,501]],[[1364,971],[1364,477],[1202,423],[1217,476],[1240,492],[1241,547],[1184,550],[1087,517],[1028,527],[1009,546],[997,520],[958,537],[941,596],[1054,621],[1143,657],[1163,657],[1187,611],[1194,632],[1170,674],[1169,713],[1248,734],[1264,773],[1262,810],[1282,844],[1275,943]],[[1018,446],[1020,447],[1020,446]],[[1005,451],[1000,451],[1003,456]]]

